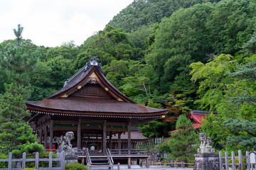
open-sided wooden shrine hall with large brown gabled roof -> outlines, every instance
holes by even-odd
[[[46,149],[57,149],[58,137],[73,131],[73,147],[94,146],[103,154],[112,146],[122,149],[122,134],[127,134],[127,149],[131,149],[131,127],[167,113],[124,96],[105,78],[96,58],[70,77],[60,91],[42,101],[28,101],[26,107],[31,113],[27,121]]]

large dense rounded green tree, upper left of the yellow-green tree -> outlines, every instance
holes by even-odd
[[[203,61],[206,54],[211,53],[206,29],[211,11],[212,4],[197,4],[174,12],[160,23],[145,60],[156,73],[162,93],[168,92],[176,79],[181,81],[188,77],[189,64]]]

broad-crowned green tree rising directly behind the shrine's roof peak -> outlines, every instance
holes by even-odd
[[[94,36],[91,45],[87,45],[85,52],[80,53],[75,60],[75,69],[82,68],[94,56],[100,59],[102,65],[110,64],[112,60],[134,59],[133,44],[124,30],[106,26]]]

